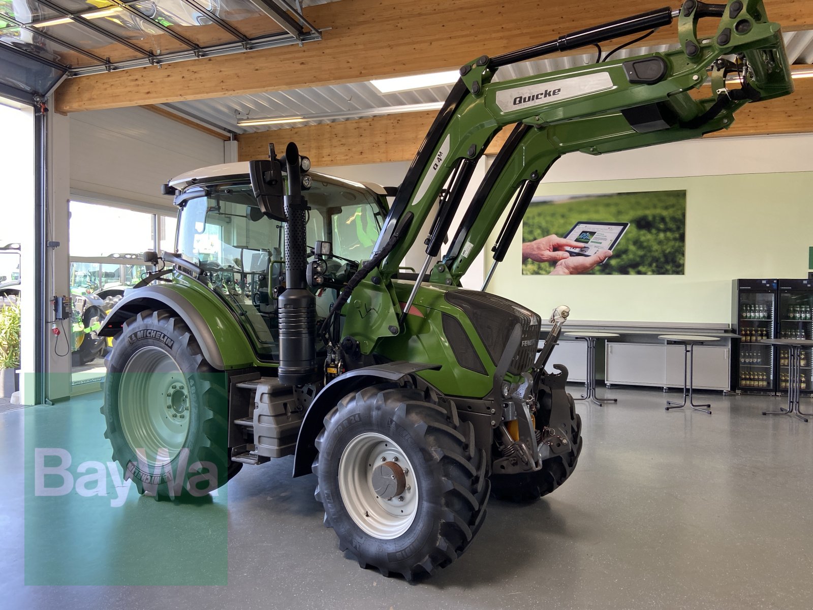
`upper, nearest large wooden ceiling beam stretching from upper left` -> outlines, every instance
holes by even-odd
[[[765,4],[769,18],[785,31],[813,28],[813,0]],[[330,28],[322,41],[80,76],[59,86],[55,107],[63,112],[98,110],[433,72],[658,5],[655,0],[627,0],[608,10],[600,0],[330,2],[305,9],[308,20]],[[710,27],[714,22],[703,21]],[[640,44],[659,45],[676,37],[673,24]]]

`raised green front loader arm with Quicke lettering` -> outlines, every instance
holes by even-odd
[[[507,63],[592,45],[618,36],[620,31],[635,33],[665,25],[678,13],[679,49],[491,81],[497,69]],[[717,34],[698,41],[698,20],[709,16],[720,18]],[[620,30],[624,24],[626,29]],[[732,55],[741,58],[736,66],[725,59]],[[710,66],[713,93],[695,99],[689,92],[706,82]],[[741,70],[741,81],[737,82],[741,87],[728,89],[726,76],[737,69]],[[381,274],[389,278],[398,271],[404,255],[420,237],[429,211],[439,201],[433,228],[425,241],[427,261],[437,257],[474,164],[494,135],[507,125],[521,123],[538,128],[529,130],[527,137],[535,140],[540,165],[537,171],[542,171],[573,150],[598,154],[699,137],[727,128],[733,112],[746,102],[792,91],[780,26],[767,21],[760,0],[733,0],[727,5],[688,0],[680,11],[661,9],[493,59],[481,57],[461,68],[460,80],[398,191],[375,250],[388,242],[403,215],[411,212],[414,219],[384,259]],[[533,132],[536,137],[531,135]],[[547,143],[541,144],[545,140]],[[524,151],[526,146],[520,148]],[[546,166],[544,159],[550,161]],[[489,217],[493,213],[489,212]],[[476,229],[489,226],[493,222],[484,219]],[[476,237],[480,247],[487,230],[483,233]],[[467,257],[476,252],[472,246]],[[460,265],[462,268],[463,261]],[[428,264],[424,271],[426,268]]]

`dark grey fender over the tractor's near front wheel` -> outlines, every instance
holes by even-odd
[[[316,457],[314,441],[324,426],[324,416],[347,394],[380,381],[398,381],[398,379],[413,375],[418,371],[437,370],[438,368],[441,368],[439,364],[388,362],[372,367],[356,368],[328,383],[319,394],[316,394],[311,406],[305,412],[297,438],[297,452],[293,457],[293,476],[302,477],[303,474],[311,473],[311,464]]]

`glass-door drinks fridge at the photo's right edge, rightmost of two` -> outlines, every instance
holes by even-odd
[[[810,339],[813,338],[813,281],[807,280],[780,280],[779,281],[779,315],[778,337],[780,339]],[[780,347],[777,351],[778,359],[778,390],[787,392],[789,384],[789,353]],[[800,389],[810,392],[811,365],[813,365],[813,351],[810,348],[802,350],[799,376]]]

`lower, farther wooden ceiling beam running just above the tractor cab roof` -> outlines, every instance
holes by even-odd
[[[813,133],[813,78],[794,81],[796,93],[785,98],[747,104],[730,129],[707,137],[761,136],[774,133]],[[296,142],[317,168],[332,165],[411,161],[423,142],[435,112],[411,112],[372,119],[309,125],[293,129],[245,133],[237,137],[241,161],[265,159],[268,142],[281,150]],[[511,129],[493,139],[487,153],[496,155]]]

